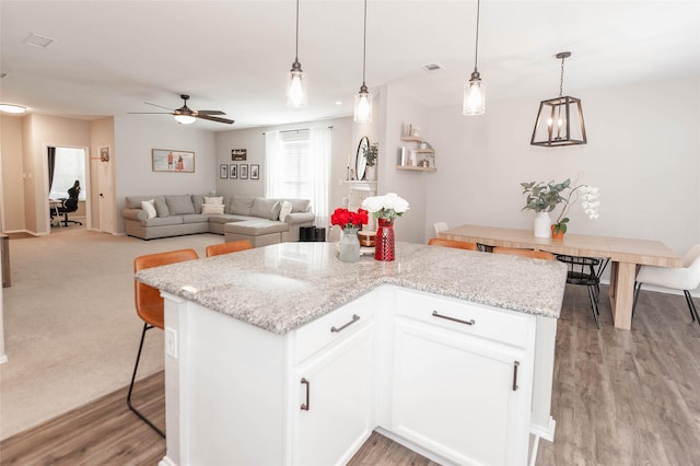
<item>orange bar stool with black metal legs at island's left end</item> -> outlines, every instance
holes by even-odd
[[[185,260],[198,259],[199,256],[195,249],[178,249],[168,253],[149,254],[145,256],[139,256],[133,259],[133,271],[148,269],[151,267],[164,266],[167,264],[182,263]],[[131,375],[131,383],[129,384],[129,393],[127,394],[127,406],[132,410],[143,422],[149,424],[154,431],[156,431],[163,439],[165,439],[165,432],[155,427],[145,416],[143,416],[131,404],[131,392],[133,392],[133,382],[136,381],[136,374],[139,369],[139,360],[141,359],[141,350],[143,349],[143,340],[145,338],[145,331],[153,327],[158,327],[161,330],[164,327],[164,307],[165,303],[161,298],[161,292],[149,287],[145,283],[141,283],[138,280],[133,280],[133,292],[136,301],[136,312],[143,321],[143,330],[141,331],[141,342],[139,343],[139,352],[136,357],[136,364],[133,365],[133,375]]]

